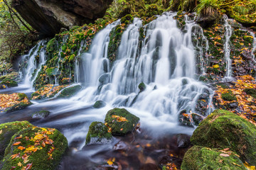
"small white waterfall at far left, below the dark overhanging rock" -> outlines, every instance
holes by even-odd
[[[27,60],[26,68],[21,68],[25,73],[23,86],[27,86],[30,89],[33,89],[33,82],[36,80],[43,64],[46,63],[46,47],[44,45],[46,45],[46,40],[41,40],[28,52],[28,55],[23,55],[22,57],[23,61]],[[39,62],[36,62],[36,57],[39,58]]]

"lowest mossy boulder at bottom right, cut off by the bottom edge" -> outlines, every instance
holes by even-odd
[[[218,149],[193,146],[188,149],[181,169],[183,170],[204,170],[204,169],[245,169],[242,161],[233,152],[224,154]]]

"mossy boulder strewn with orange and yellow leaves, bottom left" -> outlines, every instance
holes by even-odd
[[[26,128],[17,132],[5,150],[0,169],[56,169],[68,140],[56,129]],[[18,166],[21,162],[21,166]]]

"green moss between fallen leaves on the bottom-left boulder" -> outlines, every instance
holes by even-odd
[[[53,144],[47,144],[46,146],[42,147],[42,142],[39,145],[35,145],[36,142],[34,140],[26,140],[26,137],[29,139],[33,139],[36,134],[46,134],[43,132],[50,132],[47,134],[49,140],[53,141]],[[52,132],[52,133],[51,133]],[[22,137],[21,137],[22,136]],[[16,137],[21,137],[20,139],[16,139]],[[43,139],[46,139],[45,137]],[[14,146],[14,143],[21,142],[20,145]],[[36,152],[31,152],[30,156],[28,157],[28,162],[26,164],[32,164],[32,169],[56,169],[60,163],[60,160],[65,153],[65,150],[68,147],[68,140],[58,131],[55,129],[46,129],[46,128],[26,128],[17,132],[13,137],[11,137],[11,142],[9,143],[8,147],[6,148],[4,159],[2,161],[3,167],[2,170],[9,170],[11,166],[16,166],[16,169],[22,169],[22,166],[17,166],[18,162],[21,162],[23,166],[26,164],[23,163],[22,156],[25,154],[25,150],[18,149],[19,146],[23,146],[28,148],[30,146],[37,147],[38,149]],[[50,154],[48,154],[51,150],[52,158],[50,158]],[[11,158],[11,155],[19,154],[19,157],[14,159]]]

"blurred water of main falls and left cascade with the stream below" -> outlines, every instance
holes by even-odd
[[[140,169],[145,164],[159,164],[161,157],[166,155],[182,157],[186,149],[177,147],[176,134],[191,135],[194,128],[179,125],[178,113],[183,110],[197,113],[198,98],[201,94],[211,96],[213,91],[196,78],[198,61],[191,36],[195,30],[201,33],[201,28],[193,29],[199,26],[186,17],[186,31],[181,31],[174,16],[176,13],[164,13],[146,26],[142,26],[139,18],[134,18],[122,34],[113,63],[107,58],[107,47],[110,32],[119,21],[110,24],[95,35],[90,50],[81,52],[75,62],[75,80],[82,84],[82,91],[69,99],[33,101],[32,106],[22,111],[1,114],[0,123],[31,120],[35,111],[50,111],[48,118],[31,122],[57,128],[67,137],[70,149],[60,169],[100,169],[110,158],[115,158],[116,166],[122,169]],[[141,46],[140,28],[144,29]],[[45,43],[39,42],[25,56],[29,59],[22,86],[26,85],[27,89],[13,91],[33,91],[35,74],[46,63],[45,48],[42,47]],[[40,61],[35,63],[38,50]],[[141,82],[146,84],[146,89],[139,92]],[[99,100],[107,105],[92,108]],[[210,105],[211,97],[207,100]],[[104,122],[107,111],[114,107],[126,108],[137,115],[141,125],[139,130],[126,137],[114,137],[113,142],[105,145],[85,146],[90,123]],[[210,111],[211,107],[207,113]]]

